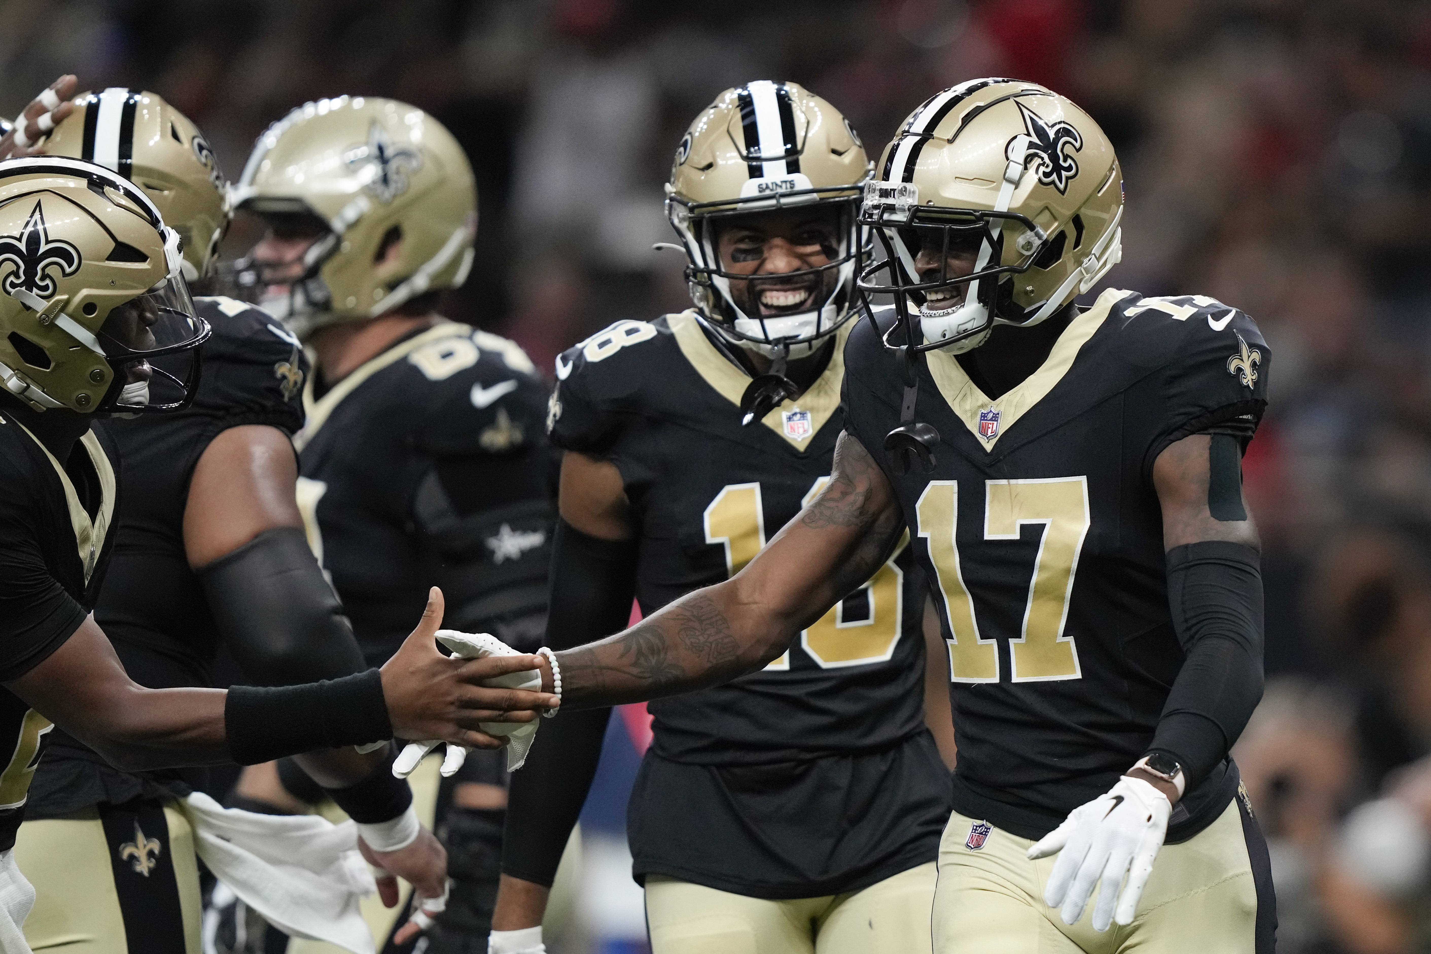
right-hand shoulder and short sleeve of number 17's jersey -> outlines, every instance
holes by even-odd
[[[1262,416],[1272,352],[1246,313],[1203,295],[1129,295],[1110,318],[1120,322],[1125,356],[1156,369],[1169,428],[1191,433]]]

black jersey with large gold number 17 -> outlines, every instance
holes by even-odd
[[[997,400],[953,356],[926,359],[916,419],[939,431],[932,473],[899,475],[883,449],[904,389],[869,322],[846,349],[846,428],[884,466],[942,594],[954,807],[1040,838],[1146,751],[1183,661],[1153,461],[1211,426],[1255,426],[1271,355],[1212,299],[1108,290]],[[1211,822],[1236,780],[1228,759],[1188,791],[1169,840]]]

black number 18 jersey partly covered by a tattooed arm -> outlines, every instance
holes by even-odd
[[[829,481],[843,343],[806,393],[747,428],[750,376],[694,312],[618,322],[558,358],[551,439],[620,469],[640,522],[644,614],[740,571]],[[653,701],[651,751],[758,764],[879,751],[923,731],[923,574],[902,545],[764,671]]]

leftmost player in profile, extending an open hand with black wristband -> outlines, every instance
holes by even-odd
[[[34,891],[13,844],[52,721],[110,764],[140,771],[255,764],[394,735],[495,748],[497,738],[477,731],[484,717],[492,721],[508,702],[535,708],[548,699],[469,685],[531,657],[445,659],[432,642],[442,611],[436,589],[382,671],[230,691],[149,689],[127,677],[90,615],[114,549],[119,491],[114,445],[90,423],[96,413],[173,410],[192,398],[196,346],[209,329],[195,316],[182,263],[179,235],[126,177],[63,157],[0,164],[6,954],[29,950],[19,925]],[[162,400],[150,399],[152,382]]]

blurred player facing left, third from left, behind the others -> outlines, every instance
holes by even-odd
[[[366,659],[392,655],[429,581],[448,625],[535,649],[554,519],[547,389],[515,343],[435,310],[472,266],[461,146],[405,103],[309,103],[259,137],[233,195],[268,226],[239,279],[316,359],[299,501]],[[456,881],[432,951],[445,934],[485,937],[497,892],[505,771],[474,757],[456,782]]]

